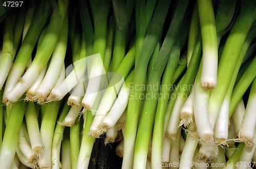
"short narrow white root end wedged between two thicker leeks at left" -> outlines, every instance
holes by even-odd
[[[36,89],[40,86],[42,80],[44,79],[45,75],[46,75],[46,71],[47,71],[47,67],[45,66],[44,69],[42,69],[41,73],[39,74],[39,76],[37,77],[37,79],[35,80],[35,82],[33,83],[33,85],[27,90],[26,92],[26,101],[36,101]]]

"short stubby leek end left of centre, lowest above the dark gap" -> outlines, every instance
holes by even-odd
[[[81,113],[82,105],[71,106],[68,115],[65,117],[60,125],[71,127],[75,124],[77,116]]]

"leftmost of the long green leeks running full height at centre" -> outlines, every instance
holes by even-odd
[[[153,16],[150,27],[148,28],[148,34],[145,37],[141,53],[138,58],[138,65],[135,67],[135,76],[133,79],[133,87],[140,86],[145,83],[147,64],[150,61],[151,54],[153,53],[157,41],[162,32],[163,23],[169,7],[169,1],[159,1],[155,14]],[[158,26],[155,26],[158,25]],[[140,87],[139,87],[140,88]],[[136,95],[142,94],[140,89],[133,89],[130,94],[130,99],[127,108],[127,117],[125,124],[125,140],[124,140],[124,154],[123,154],[123,168],[132,168],[133,154],[136,140],[137,123],[139,118],[139,109],[141,100],[136,99]]]

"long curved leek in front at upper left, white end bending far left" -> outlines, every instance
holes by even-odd
[[[57,5],[58,3],[58,5]],[[69,2],[53,3],[54,9],[47,28],[46,35],[42,40],[37,55],[35,56],[31,66],[22,76],[22,79],[9,91],[6,95],[7,104],[17,101],[32,83],[39,76],[40,72],[46,66],[51,57],[53,49],[57,43],[63,21],[65,20]]]

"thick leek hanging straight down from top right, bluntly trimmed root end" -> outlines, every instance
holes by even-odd
[[[204,89],[214,89],[217,85],[218,69],[218,41],[214,7],[211,0],[198,0],[197,4],[203,46],[203,66],[200,81]]]

